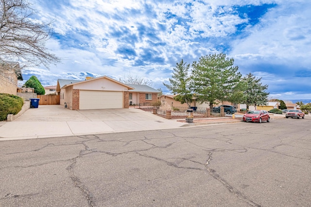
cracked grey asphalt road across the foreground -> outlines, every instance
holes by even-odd
[[[0,141],[0,206],[310,207],[310,123]]]

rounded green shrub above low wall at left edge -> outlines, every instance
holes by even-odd
[[[24,105],[24,100],[12,94],[0,93],[0,121],[5,121],[8,114],[16,115]]]

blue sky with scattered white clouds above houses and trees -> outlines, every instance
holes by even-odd
[[[207,54],[233,57],[270,98],[311,99],[308,0],[30,0],[36,18],[55,19],[47,42],[62,63],[29,68],[43,86],[57,79],[144,77],[169,93],[172,70]]]

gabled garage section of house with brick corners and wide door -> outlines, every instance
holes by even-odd
[[[107,76],[85,81],[58,79],[56,86],[60,105],[71,110],[128,108],[130,89],[134,88]]]

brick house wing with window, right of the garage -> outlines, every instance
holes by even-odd
[[[128,104],[151,104],[157,101],[158,90],[146,85],[126,84],[133,89],[129,90]]]

